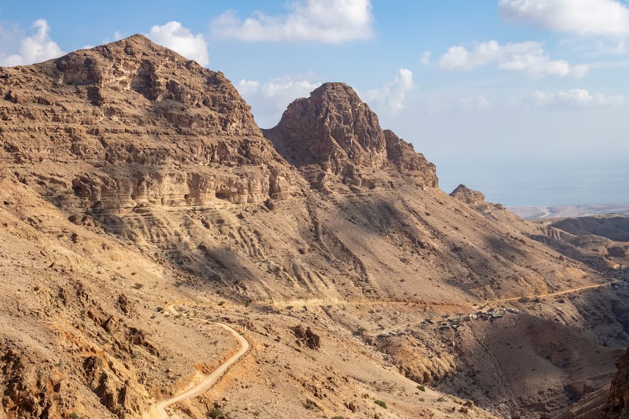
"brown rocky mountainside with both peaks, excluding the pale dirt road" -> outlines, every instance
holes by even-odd
[[[151,416],[236,350],[198,318],[252,350],[180,417],[540,418],[615,374],[625,288],[438,324],[617,272],[440,191],[345,84],[261,131],[222,73],[133,36],[0,68],[0,97],[0,415]]]

